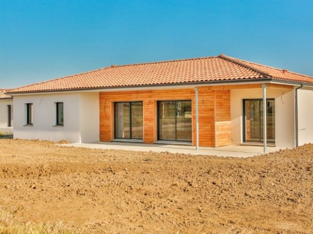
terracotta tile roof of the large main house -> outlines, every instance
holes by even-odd
[[[313,85],[313,77],[247,62],[225,55],[173,61],[112,65],[56,80],[13,89],[8,93],[31,93],[82,89],[255,80],[265,77]]]

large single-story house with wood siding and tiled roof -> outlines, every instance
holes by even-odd
[[[112,65],[12,89],[14,138],[313,142],[313,77],[226,55]]]

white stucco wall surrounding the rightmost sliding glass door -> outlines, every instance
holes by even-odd
[[[262,89],[231,90],[231,138],[233,144],[243,141],[243,99],[262,99]],[[267,88],[267,98],[275,99],[276,146],[295,146],[294,90]]]

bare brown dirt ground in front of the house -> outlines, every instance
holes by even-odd
[[[0,207],[80,233],[313,233],[313,145],[235,159],[2,139]]]

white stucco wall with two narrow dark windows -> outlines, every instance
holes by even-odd
[[[87,93],[14,96],[14,138],[70,142],[89,142],[98,139],[99,110],[96,107],[99,100],[94,104],[95,96]],[[57,102],[64,103],[64,126],[55,126]],[[26,103],[33,104],[32,126],[26,125]],[[84,110],[88,103],[91,108]],[[88,118],[92,121],[87,121]],[[88,136],[92,139],[89,140]]]

